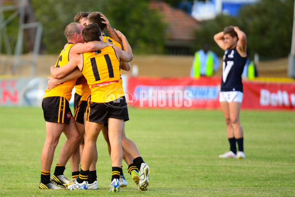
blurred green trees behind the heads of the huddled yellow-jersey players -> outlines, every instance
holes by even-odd
[[[160,16],[150,10],[148,1],[99,0],[75,1],[32,0],[35,14],[43,24],[43,43],[48,53],[59,53],[66,43],[64,29],[74,21],[79,11],[101,11],[113,28],[124,33],[134,53],[161,53],[164,46],[164,29]],[[50,6],[50,9],[49,9]]]

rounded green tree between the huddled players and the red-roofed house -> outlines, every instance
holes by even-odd
[[[166,26],[158,12],[149,8],[148,1],[109,0],[102,10],[112,27],[125,34],[135,53],[163,52]]]

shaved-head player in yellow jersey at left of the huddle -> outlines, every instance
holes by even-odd
[[[83,44],[82,30],[83,27],[78,23],[71,23],[66,27],[64,33],[68,45],[60,52],[56,67],[62,67],[67,64],[69,59],[75,54],[101,49],[108,45],[97,41]],[[80,134],[68,104],[75,83],[76,80],[71,80],[60,84],[51,91],[45,90],[42,109],[46,121],[46,139],[41,154],[40,189],[60,189],[57,184],[63,185],[69,182],[63,175],[65,164],[80,139]],[[51,164],[61,132],[64,132],[67,140],[60,150],[58,164],[56,165],[52,180],[50,180]]]

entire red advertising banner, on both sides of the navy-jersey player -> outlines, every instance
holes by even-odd
[[[220,77],[128,79],[126,99],[137,107],[220,108]],[[243,81],[244,109],[295,109],[295,82]]]

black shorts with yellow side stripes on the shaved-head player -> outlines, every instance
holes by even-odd
[[[72,112],[69,102],[64,97],[47,97],[42,101],[46,122],[70,124]]]

